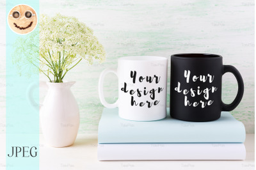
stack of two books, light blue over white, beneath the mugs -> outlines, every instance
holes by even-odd
[[[169,109],[167,109],[169,111]],[[245,128],[230,112],[208,122],[170,118],[130,121],[104,108],[99,122],[99,160],[244,160]]]

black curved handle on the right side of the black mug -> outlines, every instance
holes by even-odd
[[[234,110],[237,107],[237,105],[241,102],[244,94],[244,81],[239,71],[234,66],[223,65],[223,74],[227,72],[233,73],[235,75],[238,84],[238,91],[235,100],[231,104],[224,104],[221,101],[222,111]]]

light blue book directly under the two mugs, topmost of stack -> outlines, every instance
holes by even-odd
[[[190,122],[170,118],[131,121],[118,116],[118,108],[104,108],[99,122],[99,143],[244,143],[245,128],[241,121],[221,112],[216,121]]]

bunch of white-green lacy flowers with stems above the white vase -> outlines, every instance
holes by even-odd
[[[82,59],[89,64],[95,60],[100,63],[105,60],[106,53],[97,37],[93,36],[93,30],[75,17],[41,15],[39,32],[37,59],[40,62],[40,71],[51,82],[63,82],[66,73]],[[31,56],[36,55],[26,54],[28,59]]]

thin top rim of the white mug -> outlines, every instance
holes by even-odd
[[[168,58],[161,56],[127,56],[118,58],[118,61],[164,61]]]

